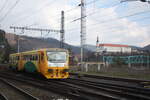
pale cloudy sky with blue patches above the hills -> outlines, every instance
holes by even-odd
[[[93,3],[95,1],[95,3]],[[100,43],[146,46],[150,44],[150,4],[120,0],[86,0],[87,44]],[[60,29],[65,11],[65,42],[80,45],[80,0],[1,0],[0,28],[13,33],[10,26]],[[16,30],[16,34],[21,31]],[[40,32],[24,35],[39,37]],[[43,37],[59,39],[59,33],[43,32]]]

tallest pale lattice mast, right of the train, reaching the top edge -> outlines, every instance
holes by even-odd
[[[84,60],[84,48],[86,45],[86,8],[85,0],[81,0],[81,64]]]

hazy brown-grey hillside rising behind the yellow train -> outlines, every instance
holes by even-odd
[[[6,38],[8,39],[9,44],[17,50],[17,35],[15,34],[6,34]],[[79,54],[80,47],[72,46],[69,44],[64,44],[65,48],[70,48],[73,53]],[[60,41],[53,38],[37,38],[37,37],[29,37],[29,36],[20,36],[20,52],[35,50],[40,48],[59,48]]]

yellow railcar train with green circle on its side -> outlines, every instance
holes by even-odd
[[[10,54],[10,68],[40,73],[47,79],[69,77],[69,53],[66,49],[48,48]]]

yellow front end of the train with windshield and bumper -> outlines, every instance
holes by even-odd
[[[69,77],[69,54],[67,50],[48,50],[47,79],[65,79]]]

